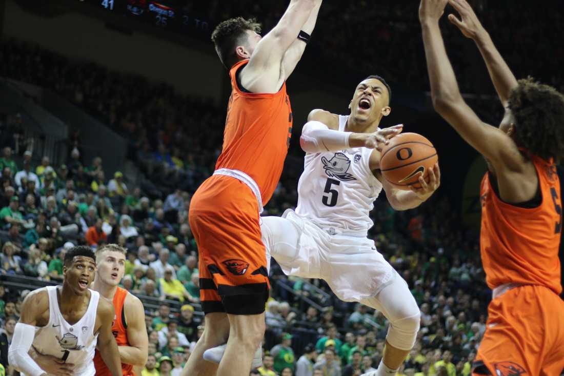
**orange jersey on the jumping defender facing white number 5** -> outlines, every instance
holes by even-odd
[[[249,60],[231,68],[231,97],[223,134],[223,150],[215,169],[240,170],[257,183],[262,204],[270,200],[280,180],[292,135],[292,108],[286,84],[274,94],[245,93],[236,73]]]

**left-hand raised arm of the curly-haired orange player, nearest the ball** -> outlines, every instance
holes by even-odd
[[[522,156],[509,135],[482,123],[462,99],[439,29],[447,1],[421,0],[419,8],[433,107],[495,170],[520,170]]]

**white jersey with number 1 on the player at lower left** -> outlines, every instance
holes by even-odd
[[[76,376],[94,376],[94,352],[98,343],[94,325],[100,294],[90,290],[86,313],[74,325],[70,325],[59,309],[57,286],[44,288],[49,294],[49,322],[36,328],[33,346],[42,354],[74,364],[73,374]]]

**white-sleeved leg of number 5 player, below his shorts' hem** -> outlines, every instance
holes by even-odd
[[[417,338],[421,315],[417,303],[406,281],[399,275],[378,295],[360,303],[382,312],[390,322],[384,357],[378,370],[369,375],[395,375]]]

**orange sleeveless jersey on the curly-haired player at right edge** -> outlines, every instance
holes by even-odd
[[[541,203],[521,208],[503,202],[489,173],[482,180],[482,262],[490,288],[505,283],[539,285],[560,294],[558,248],[562,231],[560,185],[553,161],[531,156]]]

